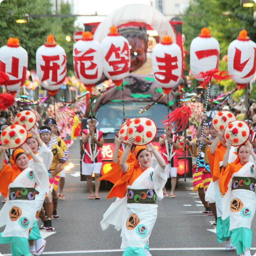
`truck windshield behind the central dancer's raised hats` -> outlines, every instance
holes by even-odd
[[[143,114],[139,113],[140,108],[143,108],[151,103],[152,102],[150,101],[125,102],[125,119],[148,117],[156,123],[157,129],[163,129],[164,125],[161,123],[161,121],[165,120],[165,116],[168,115],[166,105],[156,104],[147,111],[144,111]],[[102,105],[97,111],[96,118],[97,121],[99,121],[97,129],[99,129],[100,131],[114,132],[114,130],[119,130],[123,122],[123,104],[121,102],[118,102]]]

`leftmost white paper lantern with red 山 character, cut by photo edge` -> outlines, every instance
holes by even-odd
[[[0,71],[9,76],[6,85],[11,94],[15,94],[26,81],[28,53],[19,44],[17,38],[10,37],[7,45],[0,48]]]

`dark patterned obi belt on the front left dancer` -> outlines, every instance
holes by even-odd
[[[35,188],[10,188],[9,200],[35,200],[38,194]]]

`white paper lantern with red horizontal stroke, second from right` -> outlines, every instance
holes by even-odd
[[[192,40],[190,45],[190,68],[196,80],[203,82],[205,77],[197,77],[200,72],[207,72],[219,67],[220,45],[210,35],[208,28]]]

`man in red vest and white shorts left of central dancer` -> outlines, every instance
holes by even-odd
[[[84,155],[82,159],[82,174],[87,176],[87,185],[90,195],[88,199],[100,199],[100,170],[102,166],[102,154],[100,148],[103,147],[103,132],[96,129],[97,122],[95,117],[87,120],[87,129],[81,132],[84,143]],[[92,172],[95,173],[95,197],[93,194]]]

